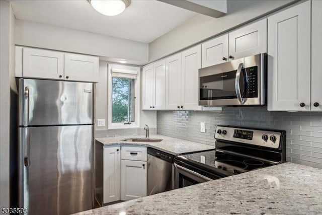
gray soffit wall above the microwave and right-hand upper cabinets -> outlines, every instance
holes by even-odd
[[[294,1],[227,0],[227,15],[215,19],[198,14],[181,26],[150,42],[149,62],[247,23],[292,2]]]

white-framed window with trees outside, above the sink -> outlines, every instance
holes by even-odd
[[[139,127],[139,74],[139,67],[109,64],[109,129]]]

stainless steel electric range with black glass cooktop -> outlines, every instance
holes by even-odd
[[[174,159],[174,188],[223,178],[286,160],[284,130],[218,125],[216,149]]]

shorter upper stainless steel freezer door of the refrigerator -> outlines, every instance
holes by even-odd
[[[19,80],[19,125],[93,124],[94,84]]]

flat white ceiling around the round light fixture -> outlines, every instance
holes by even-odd
[[[155,0],[132,0],[114,17],[95,11],[87,0],[10,0],[19,20],[149,43],[196,13]]]

